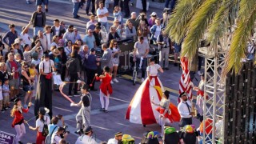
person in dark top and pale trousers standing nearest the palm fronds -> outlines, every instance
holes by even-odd
[[[161,31],[161,34],[158,35],[157,43],[159,50],[159,64],[163,67],[163,70],[169,70],[170,38],[168,38],[167,34],[162,34]],[[163,64],[165,65],[163,66]]]

